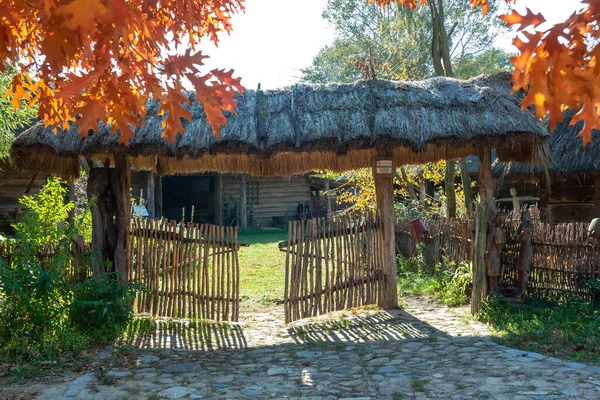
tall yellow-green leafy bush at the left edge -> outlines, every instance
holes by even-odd
[[[13,224],[10,264],[0,264],[0,341],[40,340],[66,322],[71,300],[65,266],[70,264],[72,231],[65,220],[72,204],[59,180],[20,201],[25,211]]]

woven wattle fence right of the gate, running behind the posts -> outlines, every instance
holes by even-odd
[[[423,235],[424,256],[428,263],[471,262],[474,226],[469,220],[424,219],[428,232]],[[503,223],[507,244],[502,250],[501,286],[514,286],[520,252],[519,219]],[[416,236],[411,221],[398,220],[396,244],[405,257],[416,251]],[[533,262],[527,294],[551,297],[571,294],[591,298],[587,282],[600,278],[600,240],[589,238],[587,224],[547,224],[533,222]]]

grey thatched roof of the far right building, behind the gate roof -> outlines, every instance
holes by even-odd
[[[550,150],[550,175],[590,173],[600,174],[600,132],[592,132],[592,143],[583,147],[583,139],[577,134],[583,128],[583,121],[574,125],[571,117],[575,111],[563,113],[564,121],[557,124],[554,133],[548,140]],[[504,180],[535,180],[544,174],[543,168],[529,162],[502,162],[497,160],[493,165],[494,176]]]

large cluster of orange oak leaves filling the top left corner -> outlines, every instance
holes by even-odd
[[[217,44],[241,10],[243,0],[3,0],[0,57],[20,71],[7,95],[15,105],[39,104],[46,125],[79,116],[82,136],[106,121],[125,143],[152,96],[173,140],[183,132],[180,117],[191,117],[182,94],[188,80],[218,136],[243,88],[232,71],[201,72],[200,41]]]

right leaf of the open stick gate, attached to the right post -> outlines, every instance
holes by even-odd
[[[383,230],[371,214],[289,223],[285,322],[377,304],[384,285]]]

